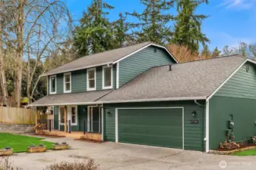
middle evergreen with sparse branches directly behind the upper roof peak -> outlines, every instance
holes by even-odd
[[[155,42],[164,45],[170,41],[172,32],[168,23],[173,17],[169,13],[172,8],[172,1],[166,0],[141,0],[145,6],[144,11],[140,14],[134,11],[126,13],[139,20],[138,23],[130,23],[135,29],[133,35],[137,42]]]

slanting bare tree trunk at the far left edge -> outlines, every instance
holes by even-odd
[[[2,16],[0,16],[0,77],[1,77],[3,101],[6,105],[8,105],[8,91],[7,91],[6,76],[5,76],[5,60],[4,60],[4,51],[3,51],[3,42],[2,42],[2,24],[1,23],[2,23]]]

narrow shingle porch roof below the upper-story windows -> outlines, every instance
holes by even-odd
[[[104,91],[87,91],[82,93],[65,93],[65,94],[50,94],[46,97],[36,100],[31,107],[36,106],[59,106],[71,104],[91,104],[93,101],[108,94],[111,90]]]

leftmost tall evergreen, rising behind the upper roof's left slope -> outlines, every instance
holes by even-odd
[[[80,26],[74,31],[74,47],[79,56],[112,50],[122,45],[119,41],[123,39],[115,35],[118,26],[113,26],[107,18],[113,8],[103,0],[93,0],[87,11],[84,11]]]

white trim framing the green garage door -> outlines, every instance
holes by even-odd
[[[119,110],[182,109],[182,149],[184,150],[184,107],[119,107],[115,108],[115,142],[119,143]]]

